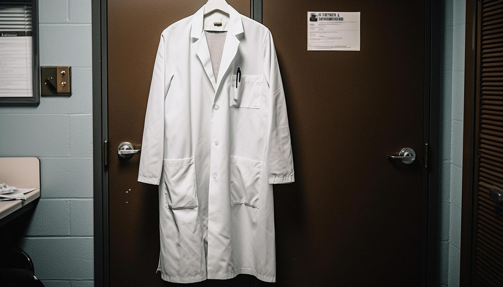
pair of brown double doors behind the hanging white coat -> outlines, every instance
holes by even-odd
[[[137,182],[140,157],[116,149],[141,148],[160,32],[205,2],[108,0],[111,286],[167,284],[155,273],[157,186]],[[249,1],[228,2],[250,14]],[[307,11],[361,12],[362,50],[307,51]],[[263,2],[296,170],[295,183],[274,187],[278,285],[420,284],[424,12],[422,1]],[[416,152],[412,164],[386,158],[405,147]],[[255,279],[237,280],[230,284]]]

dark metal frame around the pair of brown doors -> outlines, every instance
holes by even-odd
[[[470,0],[469,0],[470,1]],[[262,22],[262,0],[250,0],[251,18]],[[426,0],[424,142],[429,144],[423,176],[422,286],[436,285],[439,183],[439,103],[441,6]],[[108,91],[107,1],[92,0],[93,37],[93,179],[95,286],[109,286],[108,234]],[[111,154],[112,155],[112,154]]]

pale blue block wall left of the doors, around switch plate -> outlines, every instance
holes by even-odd
[[[40,0],[40,65],[72,67],[71,97],[0,107],[0,156],[36,156],[41,199],[21,239],[47,287],[90,287],[93,267],[91,0]]]

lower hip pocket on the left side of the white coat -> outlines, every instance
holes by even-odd
[[[166,208],[186,209],[198,206],[194,157],[164,159],[162,176]]]

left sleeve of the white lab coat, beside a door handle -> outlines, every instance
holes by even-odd
[[[173,77],[170,43],[161,34],[155,56],[143,127],[138,181],[159,184],[164,151],[164,99]]]

